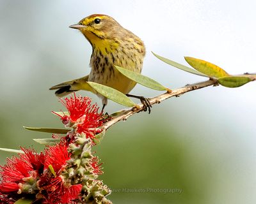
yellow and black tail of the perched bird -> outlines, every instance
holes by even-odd
[[[85,91],[91,91],[94,92],[92,87],[88,85],[86,82],[88,82],[89,75],[77,78],[75,80],[69,81],[69,82],[63,82],[58,85],[54,85],[50,88],[50,90],[55,90],[55,95],[58,97],[66,96],[67,94],[70,94],[70,92],[79,91],[79,90],[85,90]]]

